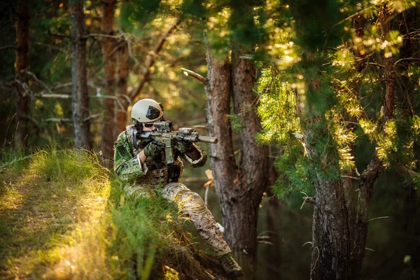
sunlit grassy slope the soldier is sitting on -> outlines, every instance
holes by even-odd
[[[0,171],[1,279],[224,279],[174,205],[127,199],[92,153],[26,161]]]

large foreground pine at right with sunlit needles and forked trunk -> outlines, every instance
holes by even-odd
[[[397,83],[407,70],[398,72],[396,66],[416,62],[415,57],[398,57],[403,41],[414,42],[407,28],[395,29],[411,6],[405,1],[297,1],[274,9],[283,20],[272,25],[276,34],[272,37],[280,40],[274,42],[279,48],[271,52],[283,58],[276,68],[286,78],[276,83],[279,78],[263,75],[258,90],[269,102],[281,102],[288,92],[297,92],[297,108],[286,116],[299,117],[295,127],[303,136],[304,153],[290,157],[294,145],[285,143],[281,133],[287,125],[281,125],[280,133],[274,128],[279,117],[262,115],[263,123],[268,123],[262,139],[277,139],[286,151],[278,160],[281,178],[286,179],[279,181],[279,194],[285,187],[306,192],[314,187],[314,197],[304,197],[314,203],[311,279],[360,278],[367,214],[381,169],[398,170],[406,180],[418,181],[413,171],[418,117],[414,106],[407,104],[415,103],[414,96],[395,102],[399,94],[408,94]],[[410,67],[418,69],[416,64]],[[418,72],[409,73],[412,80],[418,78],[414,76]],[[272,92],[284,93],[273,98]],[[400,121],[402,116],[405,121]],[[357,155],[355,147],[365,139],[374,152]],[[360,156],[371,160],[358,171]]]

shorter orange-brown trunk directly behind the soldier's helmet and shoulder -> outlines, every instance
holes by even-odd
[[[117,52],[117,64],[118,64],[118,94],[120,98],[121,106],[116,106],[116,116],[118,123],[118,133],[123,132],[127,126],[127,108],[130,106],[130,102],[124,98],[127,96],[127,80],[128,80],[128,46],[127,42],[120,46]]]

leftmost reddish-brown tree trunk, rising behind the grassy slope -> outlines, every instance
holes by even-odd
[[[30,96],[28,92],[28,36],[29,36],[29,9],[28,1],[22,0],[19,4],[18,22],[16,24],[16,121],[15,146],[24,146],[28,135],[28,115]]]

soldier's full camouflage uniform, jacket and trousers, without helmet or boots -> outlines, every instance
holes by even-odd
[[[141,163],[139,153],[148,144],[148,140],[138,141],[139,145],[135,148],[134,132],[134,127],[128,126],[127,130],[118,136],[115,143],[114,169],[120,179],[125,181],[125,193],[134,198],[150,197],[155,195],[155,190],[159,186],[162,186],[162,197],[178,204],[179,209],[190,218],[202,239],[216,256],[230,253],[228,244],[223,240],[216,221],[200,195],[178,182],[183,172],[180,157],[192,167],[202,167],[207,161],[207,154],[199,146],[193,144],[201,155],[197,160],[189,158],[186,154],[175,153],[176,160],[168,165],[165,152],[162,151]]]

